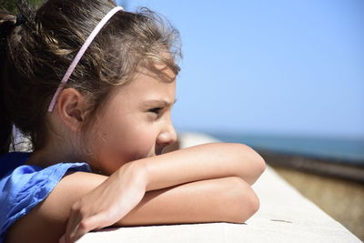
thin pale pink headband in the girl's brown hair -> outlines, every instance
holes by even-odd
[[[71,76],[72,72],[74,71],[76,65],[78,64],[81,57],[85,54],[86,49],[90,46],[91,42],[94,40],[98,32],[102,29],[104,25],[106,25],[107,21],[116,14],[118,11],[124,11],[121,6],[116,6],[104,16],[104,18],[96,25],[95,29],[91,32],[91,34],[87,37],[84,45],[78,51],[75,59],[72,61],[71,65],[68,67],[65,76],[62,78],[61,83],[59,84],[58,88],[56,89],[55,96],[53,96],[51,103],[48,106],[48,112],[52,112],[53,108],[56,106],[56,101],[58,99],[59,94],[61,93],[62,89],[65,87],[66,82],[68,81],[69,76]]]

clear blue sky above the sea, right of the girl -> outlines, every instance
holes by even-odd
[[[181,33],[178,130],[364,138],[364,1],[126,2]]]

